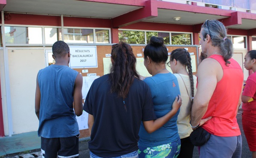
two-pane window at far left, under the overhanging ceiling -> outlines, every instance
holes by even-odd
[[[42,44],[42,28],[5,26],[6,44]]]

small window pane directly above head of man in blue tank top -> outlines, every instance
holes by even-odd
[[[61,28],[44,28],[44,38],[46,44],[53,44],[60,39]],[[61,40],[61,39],[60,39]]]

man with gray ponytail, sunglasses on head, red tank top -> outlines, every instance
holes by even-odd
[[[232,58],[233,43],[218,20],[201,26],[200,44],[207,54],[198,67],[198,87],[190,125],[197,132],[210,133],[200,145],[200,158],[240,158],[241,132],[236,114],[241,104],[243,71]],[[205,122],[204,118],[212,117]]]

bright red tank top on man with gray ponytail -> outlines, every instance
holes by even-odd
[[[236,121],[237,106],[243,84],[243,71],[233,58],[226,66],[223,56],[212,55],[209,58],[217,60],[223,69],[223,77],[217,83],[209,101],[207,112],[203,118],[212,118],[202,127],[209,133],[222,137],[241,135]],[[207,88],[207,87],[206,87]]]

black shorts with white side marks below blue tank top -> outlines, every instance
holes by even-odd
[[[58,155],[58,158],[78,158],[79,135],[64,138],[41,137],[42,157],[57,158]]]

